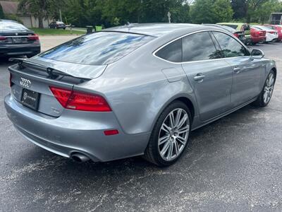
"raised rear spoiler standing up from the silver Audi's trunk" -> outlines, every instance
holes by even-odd
[[[20,69],[23,69],[24,67],[24,63],[25,64],[30,64],[32,66],[37,66],[41,69],[45,69],[45,71],[48,73],[49,77],[50,78],[57,78],[58,76],[71,76],[71,77],[74,77],[72,76],[71,74],[68,74],[68,73],[64,73],[63,71],[60,71],[60,70],[57,70],[57,69],[53,69],[51,67],[48,67],[48,66],[44,66],[42,64],[38,64],[34,61],[29,61],[27,58],[15,58],[15,57],[12,57],[9,59],[9,61],[14,61],[14,62],[17,62],[18,63],[18,66],[20,67]],[[78,78],[78,77],[75,77],[75,78]],[[91,78],[80,78],[82,80],[85,80],[85,81],[89,81]]]

